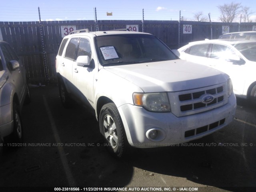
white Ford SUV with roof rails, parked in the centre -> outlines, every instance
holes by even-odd
[[[141,32],[81,32],[56,56],[60,98],[92,108],[108,148],[188,142],[232,122],[236,98],[227,74],[180,60]]]

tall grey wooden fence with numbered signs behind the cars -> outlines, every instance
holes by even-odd
[[[137,25],[142,31],[140,20],[99,20],[98,30],[114,30],[126,28],[126,25]],[[154,34],[171,49],[177,49],[188,42],[218,38],[222,34],[222,26],[228,26],[229,32],[251,31],[256,23],[209,23],[192,21],[148,21],[143,24],[144,32]],[[43,59],[42,39],[46,63]],[[14,47],[18,56],[23,60],[28,72],[30,83],[56,82],[55,57],[62,41],[61,26],[76,26],[76,30],[88,28],[96,30],[93,20],[81,21],[44,21],[41,22],[0,22],[0,40],[8,42]],[[180,30],[179,30],[180,26]],[[184,33],[183,26],[191,26],[191,33]],[[45,71],[45,69],[47,69]]]

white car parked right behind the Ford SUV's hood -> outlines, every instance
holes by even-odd
[[[256,41],[204,40],[174,50],[184,60],[228,74],[236,96],[256,103]]]

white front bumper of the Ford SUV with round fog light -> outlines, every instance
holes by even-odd
[[[118,111],[131,146],[171,146],[201,138],[230,124],[236,112],[236,98],[232,94],[224,106],[182,117],[171,112],[149,112],[131,104],[118,107]],[[150,130],[158,131],[155,139],[150,138]]]

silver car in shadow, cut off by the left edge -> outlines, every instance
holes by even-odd
[[[30,102],[24,65],[13,48],[0,41],[0,134],[11,143],[23,140],[20,115],[24,102]]]

